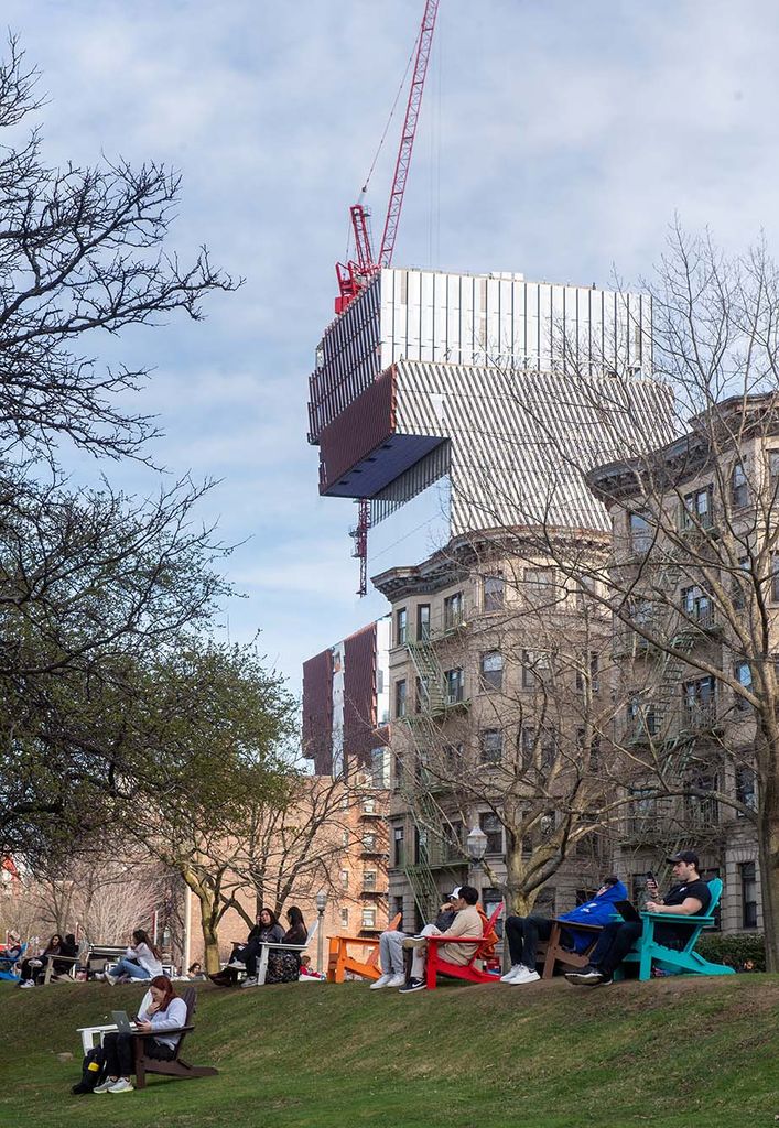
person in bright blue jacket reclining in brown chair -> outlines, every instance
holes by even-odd
[[[563,913],[559,920],[569,920],[570,928],[562,932],[563,944],[575,952],[584,951],[593,936],[592,933],[577,932],[575,925],[596,924],[604,925],[614,915],[614,901],[623,901],[628,897],[628,890],[619,878],[613,874],[605,879],[595,897],[584,905],[577,906],[570,913]],[[535,970],[539,941],[549,940],[552,932],[552,922],[549,917],[531,914],[531,916],[511,916],[506,920],[506,937],[508,950],[511,955],[511,967],[500,981],[510,984],[513,987],[519,984],[533,984],[541,976]]]

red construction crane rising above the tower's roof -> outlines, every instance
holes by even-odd
[[[349,209],[351,228],[355,235],[356,258],[348,263],[336,263],[335,274],[338,276],[339,296],[335,299],[335,312],[343,310],[355,300],[370,279],[383,266],[392,264],[392,253],[395,249],[395,237],[397,236],[397,224],[403,209],[403,194],[405,193],[405,182],[409,177],[411,165],[411,153],[417,135],[417,123],[419,122],[419,108],[422,104],[422,92],[424,90],[424,79],[428,73],[428,62],[430,60],[430,47],[432,46],[432,33],[436,27],[436,16],[438,15],[439,0],[426,0],[422,26],[419,29],[417,39],[417,58],[414,59],[414,70],[411,77],[411,89],[409,90],[409,102],[405,107],[405,120],[401,143],[395,161],[395,175],[392,179],[390,192],[390,204],[387,217],[384,221],[382,233],[382,248],[378,258],[374,258],[370,245],[370,229],[368,215],[362,203],[352,204]]]

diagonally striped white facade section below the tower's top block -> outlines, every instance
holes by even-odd
[[[607,528],[583,470],[673,433],[669,393],[653,380],[404,362],[396,405],[399,433],[450,439],[453,535],[539,522]]]

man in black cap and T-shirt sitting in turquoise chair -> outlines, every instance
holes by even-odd
[[[674,916],[698,916],[709,907],[711,893],[709,887],[698,872],[698,854],[692,849],[682,849],[666,858],[673,865],[676,884],[666,893],[663,900],[647,901],[649,913],[672,913]],[[650,895],[655,896],[657,884],[647,882]],[[634,942],[641,935],[642,920],[614,920],[607,924],[598,942],[593,949],[589,964],[581,971],[569,971],[566,979],[569,984],[585,984],[588,987],[599,987],[613,982],[614,969],[619,967]],[[655,924],[655,938],[666,948],[683,946],[689,936],[689,928],[683,924]]]

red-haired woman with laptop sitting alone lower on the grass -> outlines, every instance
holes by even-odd
[[[143,1052],[157,1061],[172,1061],[176,1056],[181,1031],[186,1025],[186,1003],[178,998],[167,976],[155,976],[143,996],[135,1029],[147,1037]],[[135,1034],[111,1031],[103,1039],[106,1077],[95,1093],[130,1093],[134,1065]]]

